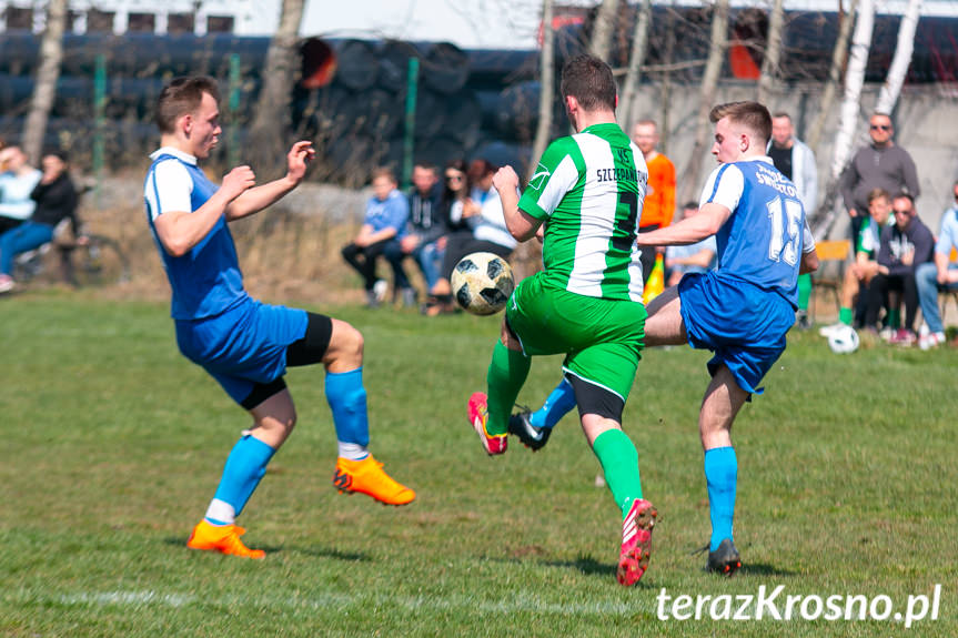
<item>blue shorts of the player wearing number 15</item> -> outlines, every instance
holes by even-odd
[[[710,350],[708,373],[728,367],[745,392],[758,387],[785,352],[785,334],[795,323],[795,308],[778,293],[716,271],[689,273],[678,283],[682,320],[694,348]]]

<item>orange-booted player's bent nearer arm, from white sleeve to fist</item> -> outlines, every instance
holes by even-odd
[[[190,252],[216,225],[230,203],[255,183],[256,175],[250,166],[236,166],[223,178],[213,196],[195,211],[169,211],[159,215],[153,226],[163,250],[174,257]]]

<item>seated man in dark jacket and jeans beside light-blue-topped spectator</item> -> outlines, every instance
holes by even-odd
[[[406,235],[399,242],[386,244],[385,256],[396,273],[396,288],[403,305],[416,303],[416,293],[403,269],[407,255],[420,265],[426,280],[426,290],[432,288],[438,279],[438,260],[442,250],[440,239],[446,234],[445,214],[442,210],[443,189],[432,164],[419,163],[413,166],[413,189],[410,191],[410,222]]]

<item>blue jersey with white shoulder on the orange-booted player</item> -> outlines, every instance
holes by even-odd
[[[182,256],[168,253],[154,221],[164,212],[200,209],[218,188],[196,165],[195,158],[174,149],[160,149],[147,172],[143,195],[147,219],[172,288],[171,312],[177,320],[219,315],[249,300],[243,290],[236,247],[224,216]]]

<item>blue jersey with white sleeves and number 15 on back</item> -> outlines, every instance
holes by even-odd
[[[716,233],[718,276],[774,291],[798,305],[803,253],[815,249],[795,184],[768,156],[723,164],[709,175],[700,205],[732,211]]]

